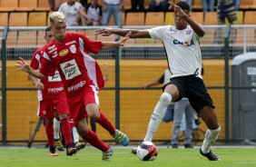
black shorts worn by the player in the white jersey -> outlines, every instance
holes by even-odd
[[[179,98],[175,101],[180,101],[183,97],[187,97],[192,105],[192,108],[199,113],[204,106],[215,108],[210,94],[201,78],[195,75],[186,75],[171,78],[169,83],[163,85],[162,90],[168,84],[174,84],[179,90]]]

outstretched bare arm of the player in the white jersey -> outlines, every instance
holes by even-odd
[[[103,36],[109,36],[111,34],[118,34],[125,36],[129,32],[132,32],[130,38],[151,38],[148,30],[129,30],[129,29],[113,29],[113,28],[102,28],[94,31],[94,34],[102,34]]]

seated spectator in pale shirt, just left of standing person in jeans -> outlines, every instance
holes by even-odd
[[[85,13],[90,18],[86,25],[102,25],[103,9],[98,5],[97,0],[91,0],[91,3],[85,5]]]

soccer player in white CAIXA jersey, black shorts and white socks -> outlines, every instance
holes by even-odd
[[[200,152],[210,161],[220,161],[210,147],[217,140],[221,131],[215,113],[215,106],[202,81],[202,54],[199,39],[205,34],[202,26],[190,17],[190,5],[170,2],[174,10],[175,25],[159,26],[147,30],[99,29],[95,34],[125,35],[132,31],[131,38],[154,38],[162,41],[172,77],[163,86],[163,93],[156,104],[143,141],[152,141],[169,103],[187,97],[193,109],[207,125]]]

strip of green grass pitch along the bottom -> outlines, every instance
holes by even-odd
[[[213,148],[222,162],[210,162],[202,157],[199,148],[168,149],[159,148],[158,157],[153,162],[142,162],[131,153],[132,147],[115,148],[111,162],[102,162],[102,152],[94,148],[85,148],[74,156],[58,152],[58,157],[50,157],[48,149],[0,148],[0,166],[2,167],[255,167],[256,147]]]

